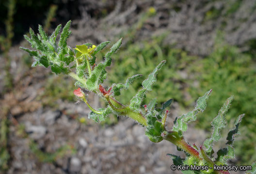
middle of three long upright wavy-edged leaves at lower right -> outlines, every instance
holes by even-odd
[[[222,108],[219,111],[218,116],[216,116],[211,122],[211,126],[213,127],[211,137],[208,138],[207,140],[205,140],[205,142],[204,142],[207,153],[212,152],[213,143],[217,142],[221,138],[220,131],[221,131],[221,129],[225,128],[225,126],[226,126],[226,120],[225,120],[224,116],[225,116],[225,113],[227,112],[228,108],[230,107],[233,98],[234,97],[231,96],[225,101],[224,105],[222,106]]]

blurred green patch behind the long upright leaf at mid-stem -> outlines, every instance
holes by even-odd
[[[184,70],[197,57],[188,56],[185,51],[180,49],[163,46],[163,38],[164,35],[152,38],[150,41],[129,44],[125,48],[121,47],[121,50],[113,56],[114,67],[108,74],[109,85],[117,82],[125,83],[126,79],[134,74],[144,74],[144,77],[133,82],[128,91],[123,91],[128,98],[123,98],[122,95],[117,97],[120,102],[128,104],[138,88],[141,87],[144,78],[160,61],[167,59],[167,64],[158,74],[158,81],[154,85],[154,89],[147,94],[145,103],[155,97],[158,98],[159,104],[170,98],[182,102],[183,105],[191,103],[191,101],[183,100],[186,98],[185,91],[187,90],[184,85],[188,80]]]

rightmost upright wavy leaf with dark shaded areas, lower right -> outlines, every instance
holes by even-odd
[[[235,158],[235,150],[233,147],[233,143],[234,143],[235,138],[238,135],[240,135],[240,131],[238,130],[238,127],[242,121],[243,116],[244,116],[244,114],[238,116],[238,118],[235,122],[234,128],[228,132],[227,138],[226,138],[227,139],[227,143],[226,143],[227,147],[222,148],[217,152],[217,155],[218,155],[217,160],[218,161],[227,164],[228,160]]]

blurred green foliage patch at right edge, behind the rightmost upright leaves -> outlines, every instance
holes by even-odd
[[[208,129],[210,120],[218,112],[220,102],[224,102],[229,95],[234,95],[233,109],[226,116],[227,120],[234,120],[237,113],[245,113],[242,125],[246,126],[243,131],[242,148],[238,148],[237,154],[243,162],[256,160],[256,153],[252,140],[256,138],[256,62],[253,56],[240,53],[239,49],[225,44],[218,39],[214,51],[204,59],[199,59],[188,67],[195,75],[194,79],[199,82],[198,87],[191,86],[190,93],[196,97],[211,87],[215,93],[208,102],[210,110],[206,110],[206,116],[200,116],[198,126]],[[240,150],[239,150],[240,149]],[[251,149],[251,150],[249,150]],[[246,154],[246,155],[245,155]]]

